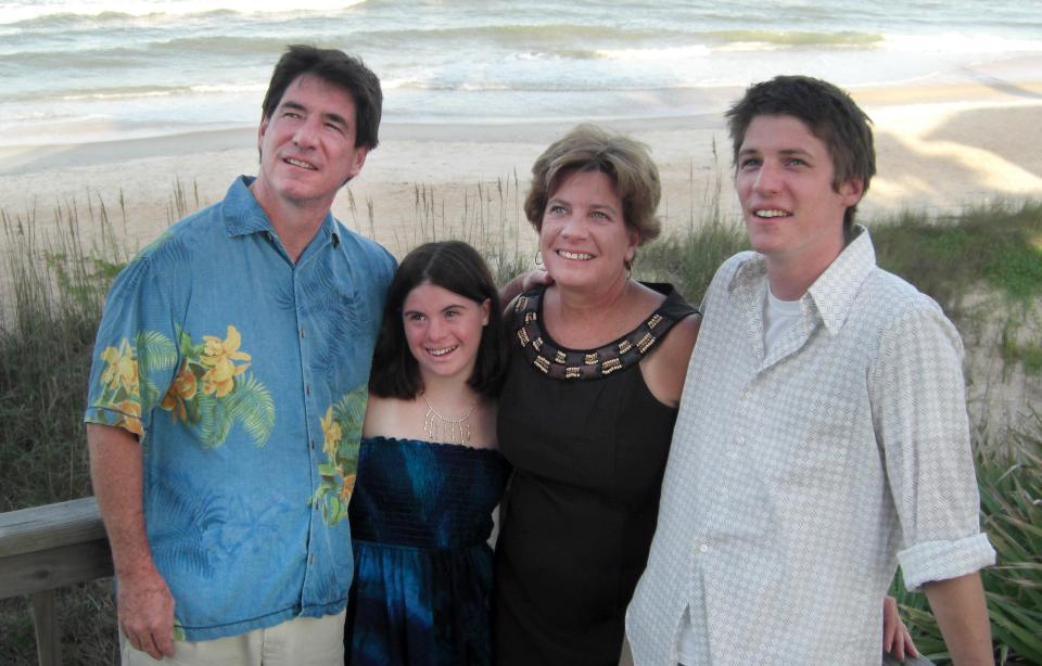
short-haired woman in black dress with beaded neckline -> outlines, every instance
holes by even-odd
[[[525,214],[554,283],[507,315],[497,662],[617,664],[700,319],[670,285],[630,278],[660,231],[643,144],[580,126],[532,174]]]

